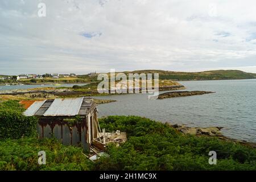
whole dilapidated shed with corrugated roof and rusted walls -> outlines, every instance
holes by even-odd
[[[64,145],[89,150],[92,140],[99,135],[97,105],[90,97],[56,98],[30,104],[24,115],[39,118],[40,139],[55,137]]]

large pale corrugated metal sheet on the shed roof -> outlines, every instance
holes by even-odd
[[[47,111],[43,114],[44,116],[73,116],[79,114],[79,110],[82,105],[84,97],[61,99],[56,98]]]

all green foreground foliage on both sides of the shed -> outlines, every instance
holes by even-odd
[[[22,115],[16,101],[0,104],[0,170],[256,170],[256,149],[212,137],[181,135],[168,124],[135,116],[100,119],[106,131],[127,133],[127,142],[108,146],[95,163],[82,148],[35,137],[36,118]],[[23,126],[24,125],[24,126]],[[46,165],[38,152],[46,151]],[[217,152],[217,165],[208,163]]]

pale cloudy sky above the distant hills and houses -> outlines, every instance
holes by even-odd
[[[255,7],[254,0],[1,0],[0,75],[256,73]]]

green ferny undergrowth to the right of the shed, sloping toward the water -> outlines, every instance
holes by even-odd
[[[98,160],[101,170],[255,170],[256,149],[212,137],[181,135],[167,124],[141,117],[100,119],[101,128],[127,132],[121,147],[110,146],[109,158]],[[210,165],[209,151],[217,152]]]

